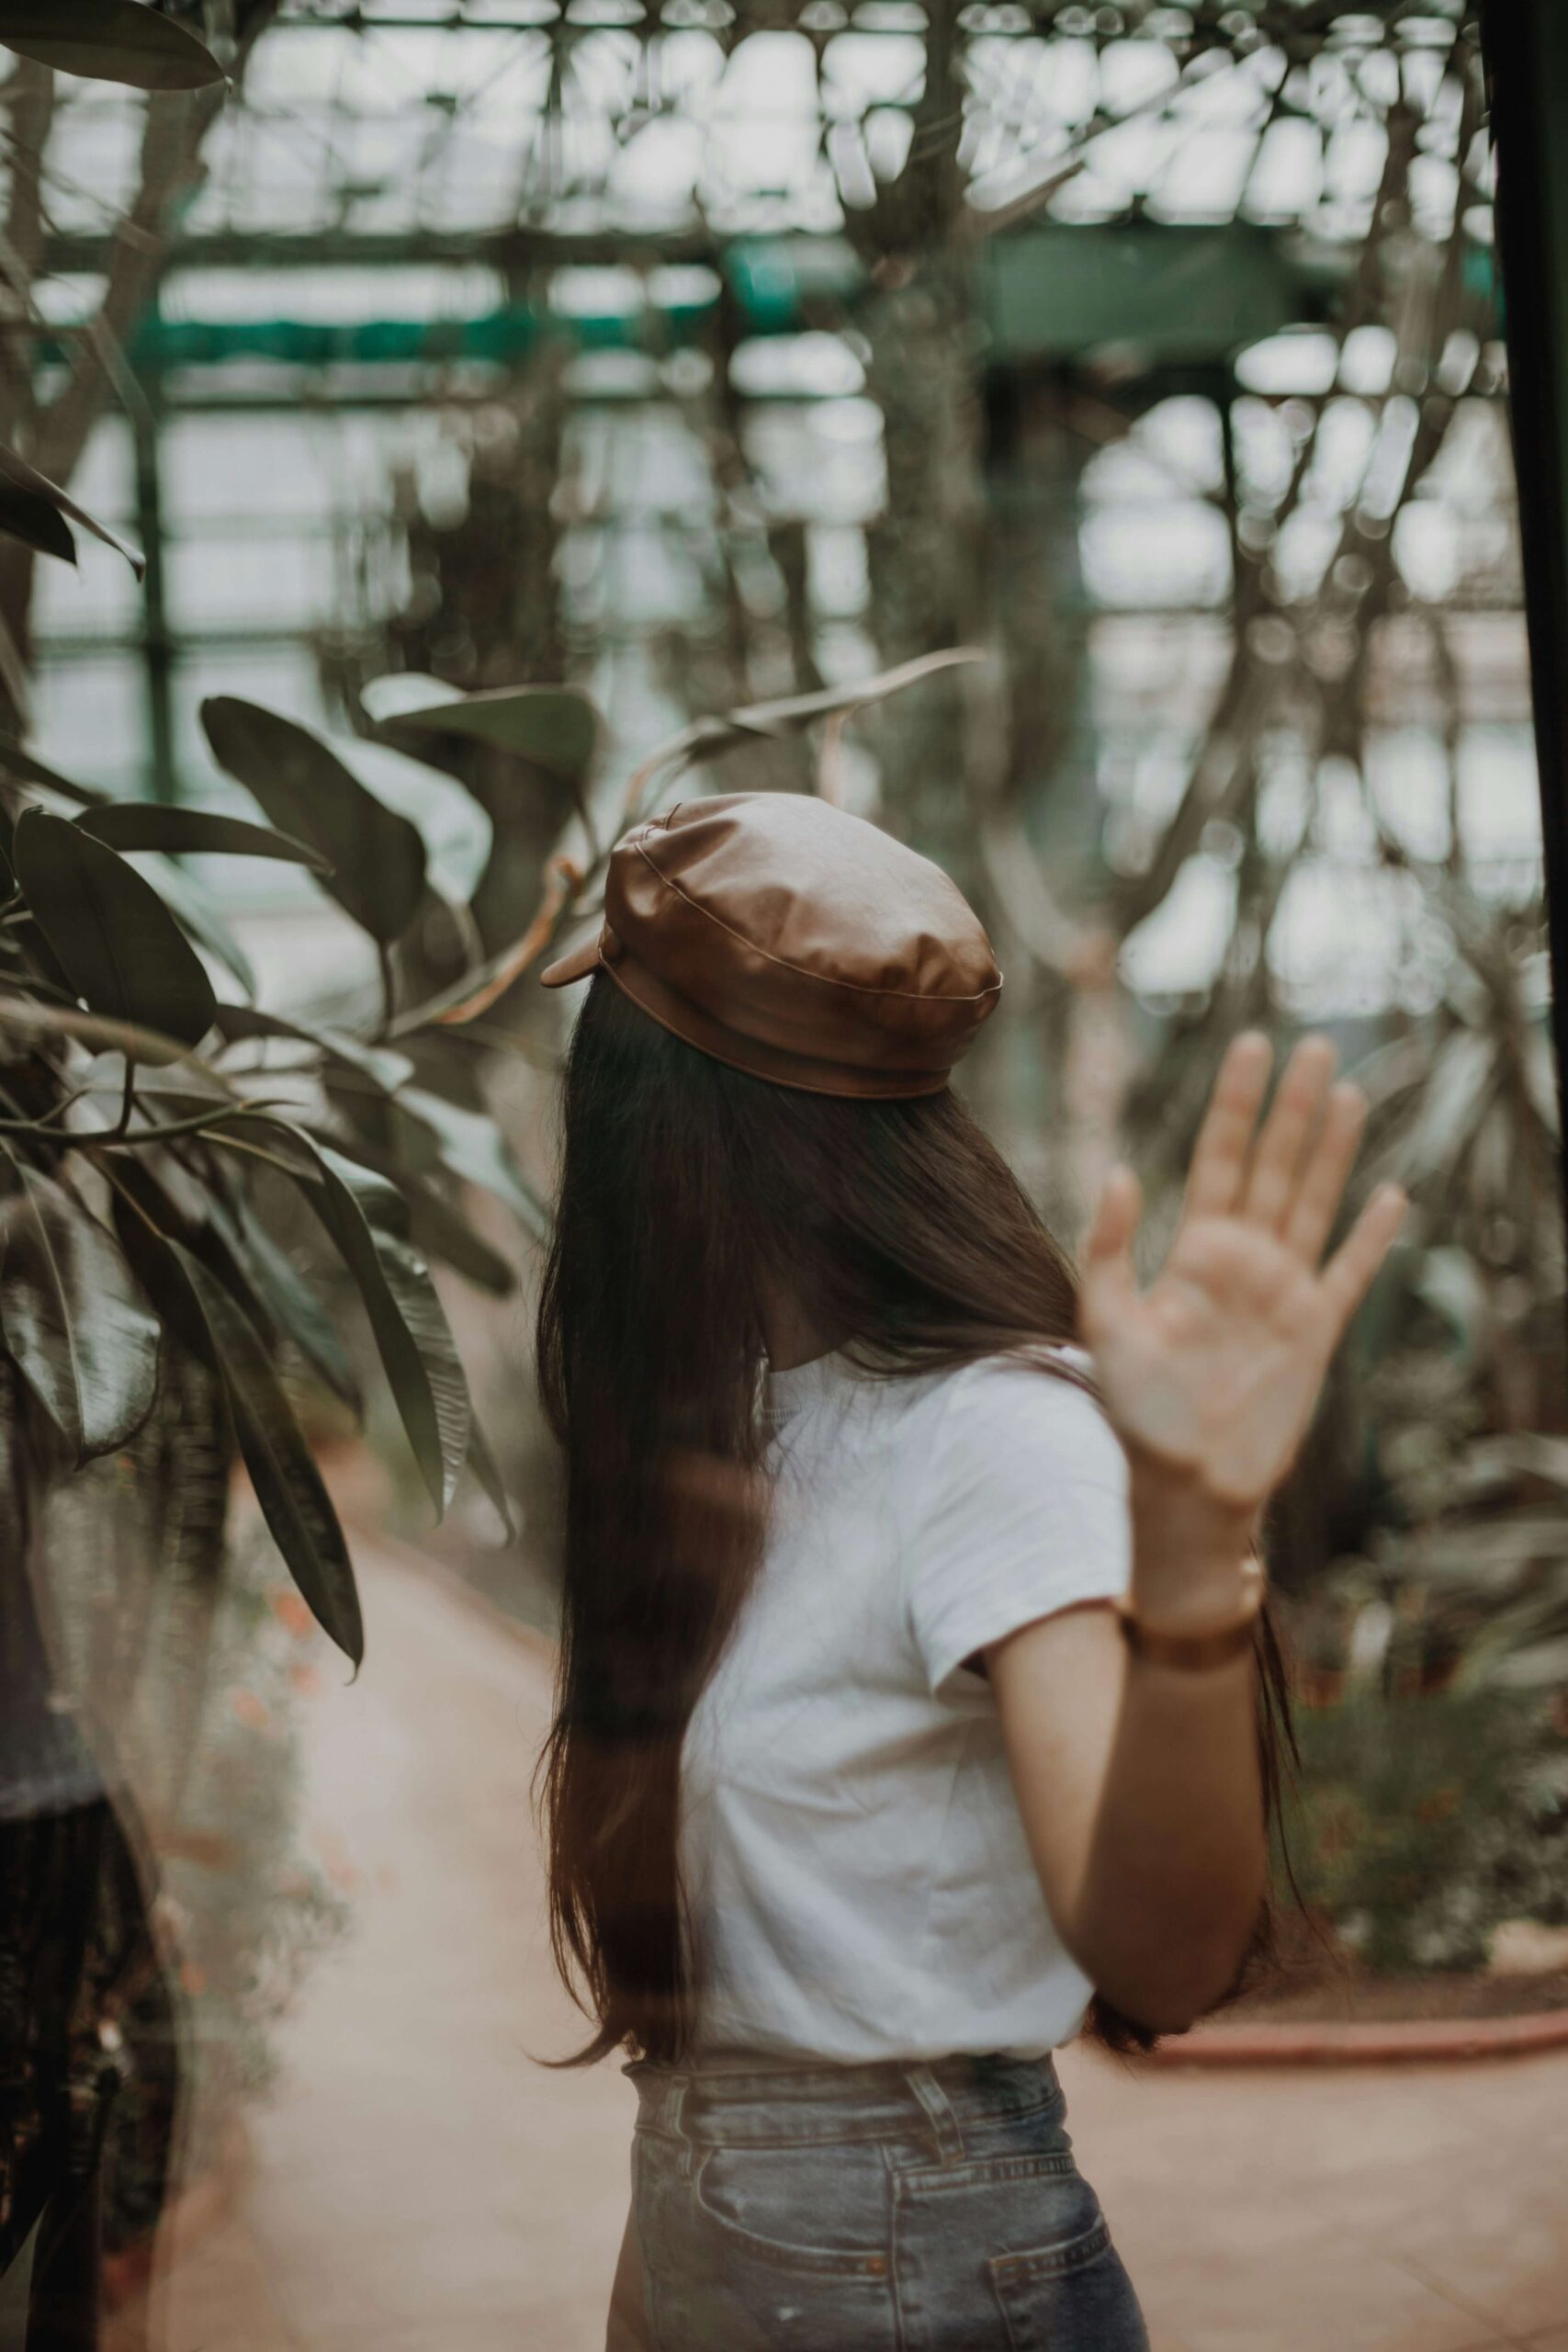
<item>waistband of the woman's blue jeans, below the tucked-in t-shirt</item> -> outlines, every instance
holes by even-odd
[[[703,2145],[886,2140],[910,2126],[961,2143],[966,2124],[1060,2105],[1051,2058],[952,2056],[875,2065],[759,2065],[755,2072],[623,2067],[637,2084],[637,2129]]]

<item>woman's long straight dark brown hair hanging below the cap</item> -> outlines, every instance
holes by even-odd
[[[564,1449],[557,1708],[541,1757],[550,1936],[592,2039],[677,2060],[693,1957],[679,1884],[679,1752],[762,1557],[764,1298],[889,1378],[1067,1341],[1077,1282],[952,1091],[839,1101],[698,1054],[602,974],[564,1087],[559,1214],[538,1305]],[[1039,1355],[1041,1376],[1070,1376]],[[1269,1818],[1295,1755],[1260,1628]],[[1260,1915],[1239,1983],[1272,1945]],[[1154,2034],[1098,1999],[1112,2049]]]

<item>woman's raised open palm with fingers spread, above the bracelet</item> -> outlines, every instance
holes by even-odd
[[[1328,1359],[1406,1211],[1382,1185],[1321,1261],[1366,1096],[1331,1084],[1333,1047],[1307,1037],[1269,1117],[1269,1042],[1237,1037],[1192,1155],[1182,1218],[1147,1291],[1133,1275],[1140,1188],[1112,1169],[1086,1242],[1079,1329],[1133,1470],[1180,1475],[1246,1519],[1288,1472]]]

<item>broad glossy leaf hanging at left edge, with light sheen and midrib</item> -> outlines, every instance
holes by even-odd
[[[113,1454],[158,1392],[158,1317],[113,1237],[49,1176],[16,1164],[0,1207],[0,1334],[75,1454]]]

